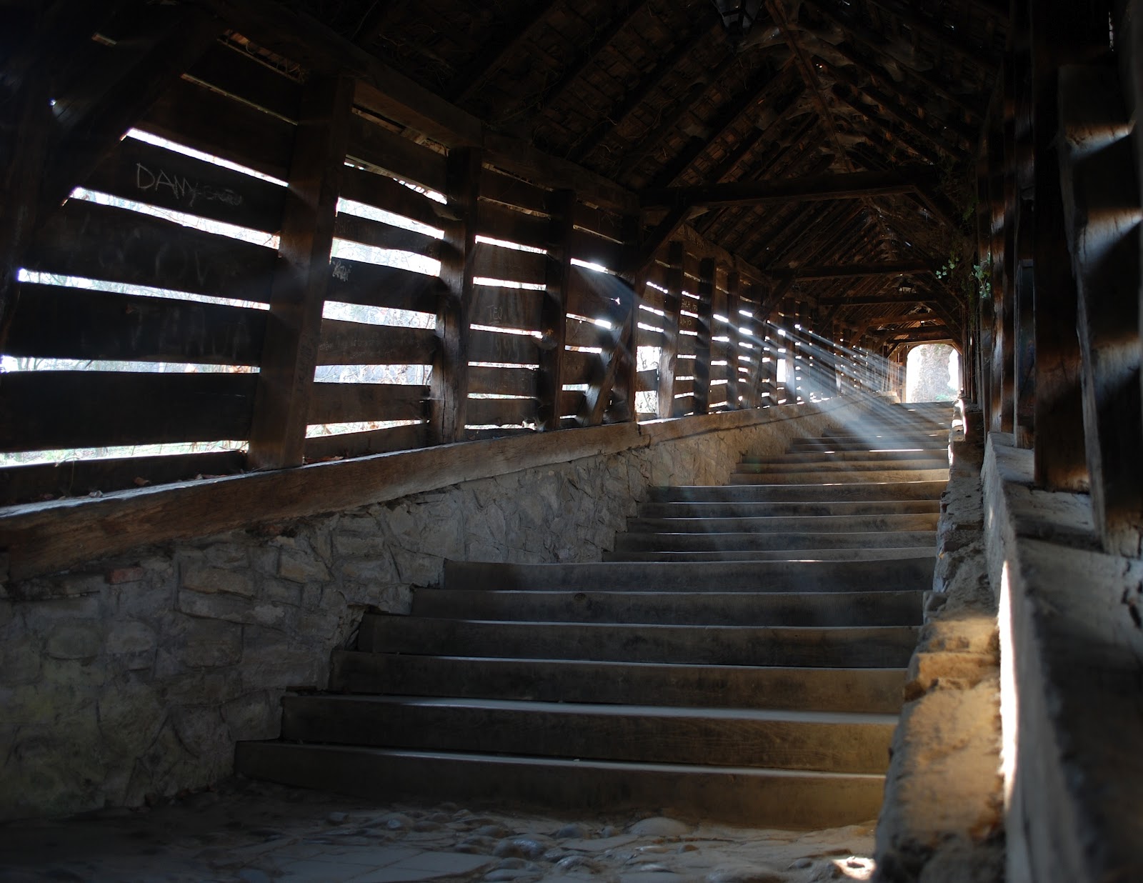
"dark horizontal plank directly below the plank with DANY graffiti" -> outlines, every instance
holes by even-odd
[[[267,303],[277,260],[270,248],[72,199],[40,231],[24,267]]]

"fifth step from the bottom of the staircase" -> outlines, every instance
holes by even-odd
[[[416,616],[689,626],[914,626],[921,590],[861,592],[417,589]]]

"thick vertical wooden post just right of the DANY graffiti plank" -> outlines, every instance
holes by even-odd
[[[302,464],[352,109],[347,77],[314,78],[302,93],[250,425],[256,469]]]

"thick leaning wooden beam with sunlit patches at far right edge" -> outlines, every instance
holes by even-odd
[[[1079,295],[1092,514],[1112,555],[1143,546],[1140,191],[1112,66],[1060,70],[1060,183]]]

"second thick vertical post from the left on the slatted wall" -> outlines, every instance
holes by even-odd
[[[431,431],[437,444],[464,440],[469,417],[469,333],[472,310],[473,254],[480,197],[481,153],[449,151],[445,198],[456,220],[445,223],[437,308],[437,358],[432,368]]]

